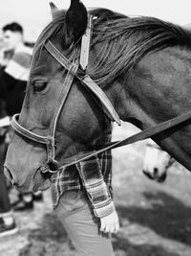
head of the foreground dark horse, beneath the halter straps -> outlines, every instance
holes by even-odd
[[[77,62],[79,39],[87,27],[87,11],[76,0],[71,2],[68,12],[56,13],[57,15],[53,15],[53,22],[39,36],[34,46],[30,80],[19,124],[45,136],[49,134],[50,126],[53,126],[53,116],[61,110],[53,142],[57,168],[61,165],[62,158],[87,151],[87,147],[98,134],[110,129],[110,121],[105,119],[101,108],[96,106],[93,95],[76,79],[66,102],[59,109],[60,101],[67,94],[65,81],[71,78],[67,77],[66,69],[48,52],[46,43],[50,40],[63,56],[69,58],[73,64]],[[37,109],[40,111],[36,112]],[[19,149],[17,153],[15,147]],[[26,151],[25,156],[23,151]],[[46,146],[29,141],[17,132],[12,136],[5,166],[5,174],[19,190],[44,190],[50,186],[50,179],[41,172],[50,168],[47,165]]]

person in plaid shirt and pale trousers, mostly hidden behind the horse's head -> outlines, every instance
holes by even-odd
[[[111,141],[111,131],[94,142]],[[112,154],[105,151],[52,176],[53,209],[77,255],[114,255],[111,234],[119,229],[112,193]]]

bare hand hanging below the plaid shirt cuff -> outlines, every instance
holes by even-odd
[[[100,231],[108,234],[116,234],[119,229],[117,212],[114,211],[110,215],[100,218]]]

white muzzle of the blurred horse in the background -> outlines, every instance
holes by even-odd
[[[149,139],[145,147],[142,172],[150,179],[164,182],[168,169],[174,163],[169,153],[163,151],[153,140]]]

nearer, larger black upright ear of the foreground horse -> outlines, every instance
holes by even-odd
[[[71,0],[71,6],[66,13],[65,44],[71,45],[86,31],[88,12],[80,0]]]

